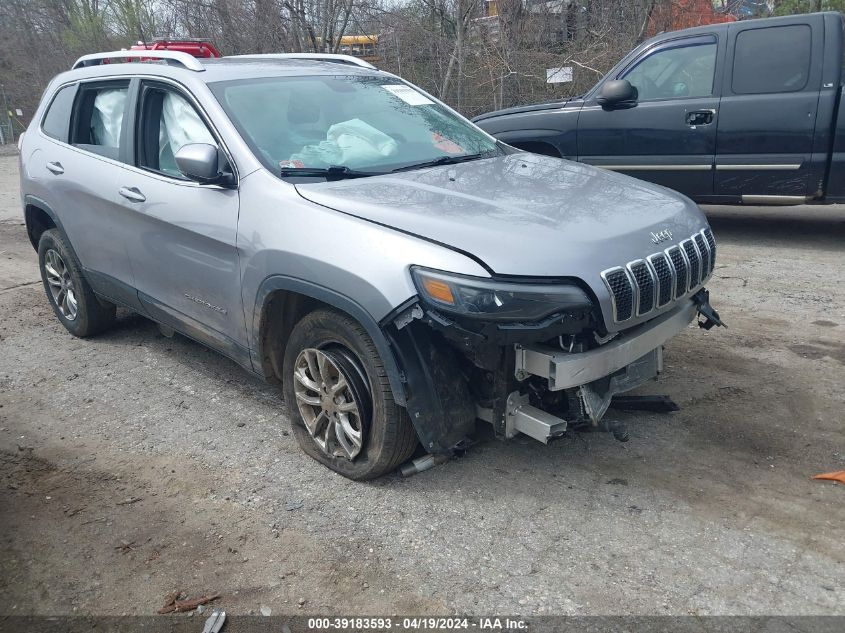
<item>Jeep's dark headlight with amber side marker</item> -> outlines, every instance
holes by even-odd
[[[469,318],[539,321],[591,305],[587,294],[574,284],[509,283],[418,267],[411,268],[411,275],[428,305]]]

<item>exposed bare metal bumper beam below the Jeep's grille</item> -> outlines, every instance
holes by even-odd
[[[601,347],[578,354],[541,346],[516,348],[516,375],[546,378],[551,391],[579,387],[627,367],[682,332],[695,318],[698,306],[684,305],[627,331]]]

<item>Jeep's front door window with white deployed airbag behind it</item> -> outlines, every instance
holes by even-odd
[[[191,143],[216,147],[217,142],[194,106],[178,92],[147,85],[142,94],[138,166],[184,178],[176,166],[176,152]]]

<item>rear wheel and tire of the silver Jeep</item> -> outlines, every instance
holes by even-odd
[[[47,299],[68,332],[84,338],[99,334],[114,323],[115,306],[97,299],[58,230],[50,229],[41,235],[38,266]]]

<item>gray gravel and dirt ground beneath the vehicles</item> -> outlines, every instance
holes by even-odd
[[[53,317],[0,157],[0,613],[845,614],[845,209],[709,209],[712,300],[631,440],[486,440],[360,484],[279,393],[123,315]]]

